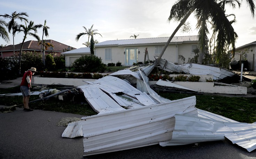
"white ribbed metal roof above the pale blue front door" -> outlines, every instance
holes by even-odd
[[[141,39],[124,39],[124,40],[110,40],[95,44],[95,47],[101,46],[122,46],[122,45],[150,45],[150,44],[165,44],[169,37],[156,38],[141,38]],[[174,36],[170,43],[188,43],[198,42],[197,35],[194,36]]]

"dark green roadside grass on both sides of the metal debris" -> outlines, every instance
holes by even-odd
[[[34,91],[34,90],[31,90]],[[0,94],[10,94],[20,92],[20,87],[13,87],[9,89],[0,89]],[[160,96],[176,100],[194,96],[192,94],[180,93],[165,93],[160,92]],[[244,97],[223,97],[217,95],[195,95],[196,108],[215,113],[238,122],[253,123],[256,122],[256,98]],[[32,95],[30,101],[39,99],[39,95]],[[13,106],[21,105],[22,96],[0,96],[0,105]],[[54,97],[46,100],[39,100],[32,102],[29,106],[33,109],[40,109],[45,111],[56,111],[72,114],[80,114],[85,116],[97,114],[91,106],[86,102],[83,96],[79,96],[73,101],[63,101],[55,99]],[[19,107],[22,107],[19,106]]]

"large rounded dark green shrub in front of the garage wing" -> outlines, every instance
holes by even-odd
[[[106,69],[102,59],[94,55],[84,55],[76,59],[72,67],[78,72],[104,72]]]

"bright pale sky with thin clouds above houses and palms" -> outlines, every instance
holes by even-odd
[[[97,29],[102,35],[95,35],[99,42],[108,40],[137,38],[169,37],[178,26],[177,22],[168,21],[170,10],[176,0],[0,0],[0,15],[12,12],[27,12],[28,20],[34,24],[46,25],[48,37],[54,41],[74,48],[86,47],[83,43],[88,36],[75,40],[77,34],[85,28]],[[256,1],[255,1],[256,4]],[[240,9],[227,9],[227,14],[235,14],[237,22],[233,24],[238,39],[235,46],[239,47],[256,41],[256,17],[251,16],[246,1],[242,1]],[[7,22],[9,19],[5,19]],[[197,35],[196,19],[193,15],[187,20],[192,30],[188,33],[178,32],[175,36]],[[19,24],[24,22],[17,21]],[[42,29],[38,29],[38,36],[42,37]],[[22,43],[24,34],[14,37],[14,43]],[[0,39],[0,45],[12,45],[13,38],[9,34],[10,42]],[[208,38],[211,34],[208,35]],[[36,40],[28,36],[25,41]]]

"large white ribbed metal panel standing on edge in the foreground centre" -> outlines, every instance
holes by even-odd
[[[195,96],[82,118],[84,156],[171,139],[174,114],[197,115]]]

